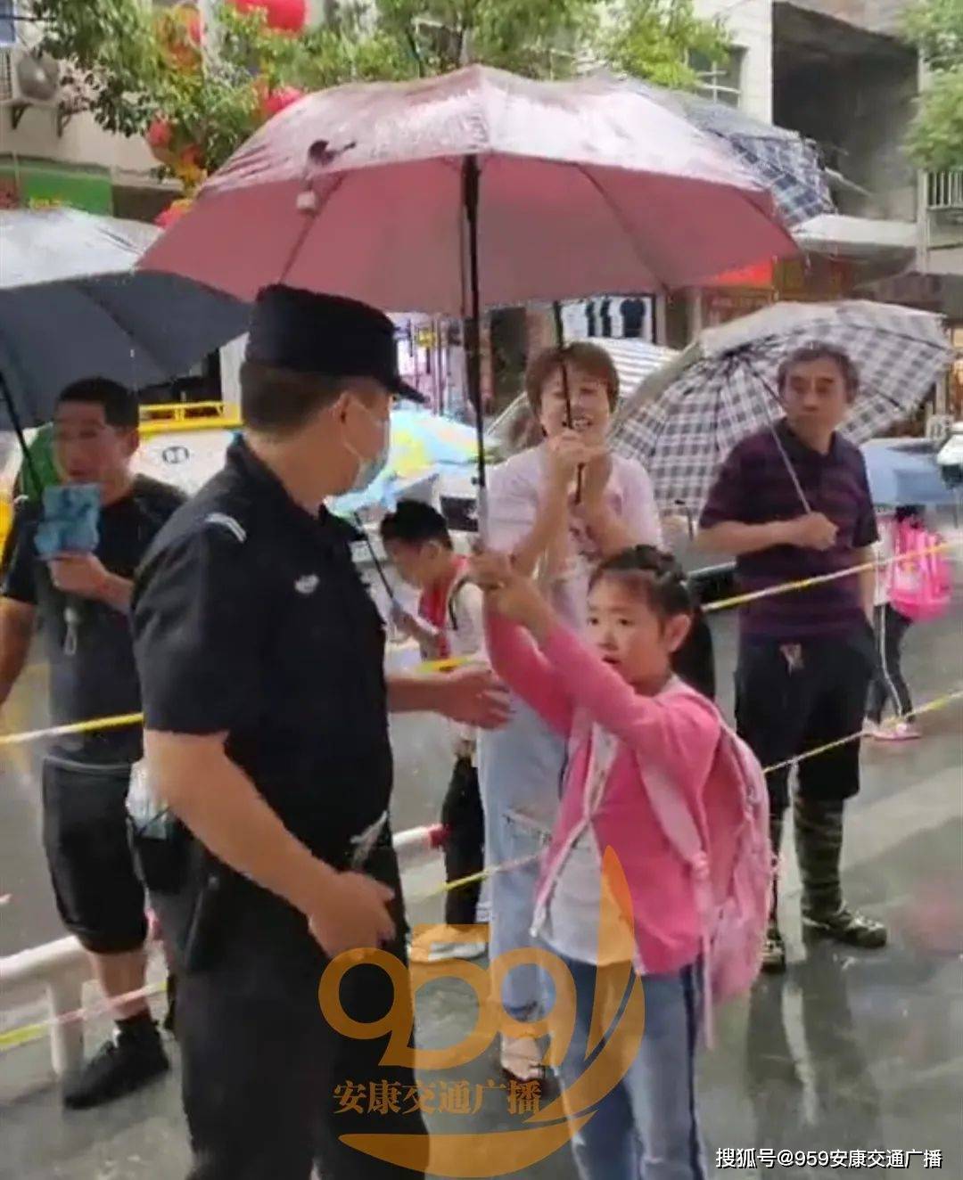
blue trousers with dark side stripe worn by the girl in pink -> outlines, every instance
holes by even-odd
[[[565,963],[575,979],[576,1017],[571,1045],[557,1070],[563,1103],[564,1092],[585,1071],[596,971],[605,970]],[[705,1180],[695,1100],[701,983],[700,964],[642,977],[646,1024],[638,1053],[622,1081],[572,1136],[581,1180]],[[607,1041],[608,1034],[602,1044]],[[570,1117],[584,1113],[566,1110]]]

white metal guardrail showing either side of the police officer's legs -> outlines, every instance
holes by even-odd
[[[394,837],[401,871],[413,861],[440,851],[445,830],[440,824],[407,828]],[[42,946],[31,946],[0,958],[0,991],[5,1002],[12,992],[42,989],[46,994],[50,1025],[51,1064],[58,1077],[76,1069],[84,1056],[84,1022],[59,1022],[57,1017],[83,1007],[83,988],[91,978],[86,953],[70,935]]]

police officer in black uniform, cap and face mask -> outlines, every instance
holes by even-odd
[[[353,533],[323,507],[387,448],[391,395],[407,392],[391,321],[267,288],[241,386],[243,438],[135,594],[148,774],[184,825],[156,904],[181,971],[190,1176],[308,1180],[314,1160],[326,1180],[411,1176],[427,1162],[412,1071],[379,1066],[384,1040],[336,1035],[317,986],[345,950],[405,957],[387,712],[492,726],[505,701],[487,670],[386,681]],[[369,964],[341,1003],[362,1023],[392,1003],[393,1021],[411,1016]],[[372,1103],[375,1086],[391,1100]],[[394,1167],[338,1139],[362,1132],[412,1135],[417,1158]]]

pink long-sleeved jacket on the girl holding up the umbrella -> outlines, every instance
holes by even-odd
[[[719,710],[694,689],[676,683],[659,696],[641,696],[572,631],[563,625],[539,649],[522,628],[490,615],[489,655],[493,668],[545,722],[572,742],[562,805],[542,866],[536,926],[569,847],[591,826],[598,847],[618,856],[633,899],[636,969],[648,975],[677,971],[701,950],[701,924],[689,870],[669,845],[649,804],[640,762],[659,765],[677,784],[706,837],[705,799],[713,787],[722,732]],[[588,800],[591,726],[572,733],[587,714],[618,740],[605,788]],[[582,727],[579,726],[579,729]]]

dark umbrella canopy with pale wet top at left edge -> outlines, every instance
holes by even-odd
[[[247,329],[238,300],[133,271],[158,232],[74,209],[0,210],[0,374],[22,426],[47,421],[71,381],[157,385]]]

